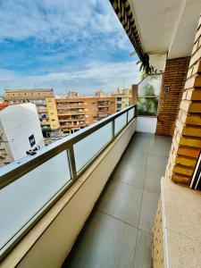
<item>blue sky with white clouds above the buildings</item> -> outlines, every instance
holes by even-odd
[[[109,0],[0,0],[0,95],[128,88],[139,80],[131,51]]]

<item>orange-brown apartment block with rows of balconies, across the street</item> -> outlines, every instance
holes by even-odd
[[[66,96],[55,99],[61,130],[72,133],[116,112],[112,96]]]

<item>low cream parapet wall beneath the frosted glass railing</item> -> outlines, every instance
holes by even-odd
[[[96,159],[95,163],[29,231],[27,240],[26,238],[21,240],[13,252],[4,259],[1,264],[2,268],[13,267],[16,264],[18,264],[16,266],[18,268],[61,267],[64,258],[71,250],[84,222],[86,222],[97,198],[105,187],[105,183],[128,146],[135,129],[136,119],[130,122],[130,125],[115,138],[113,143]],[[69,197],[68,192],[71,193],[73,188],[77,189]],[[63,207],[58,210],[62,203]],[[50,217],[55,214],[56,209],[59,212],[51,220]],[[47,227],[44,227],[46,224],[48,224]],[[36,233],[40,233],[40,235],[36,236]],[[30,240],[33,237],[35,243],[31,247]],[[19,263],[21,251],[24,253]]]

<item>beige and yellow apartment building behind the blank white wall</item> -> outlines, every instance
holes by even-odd
[[[37,105],[40,125],[46,136],[59,129],[53,88],[5,89],[4,99],[9,105],[16,102]]]

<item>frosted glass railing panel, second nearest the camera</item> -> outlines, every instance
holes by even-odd
[[[77,172],[112,139],[112,122],[81,139],[74,147]]]

